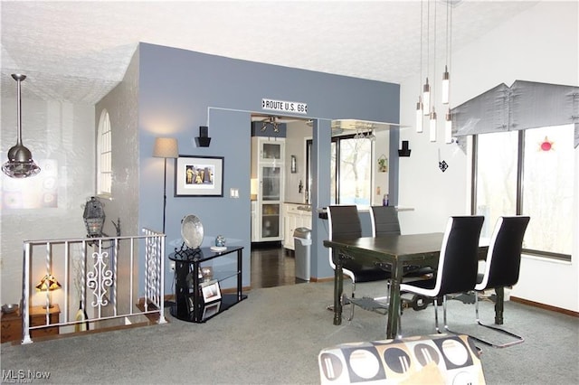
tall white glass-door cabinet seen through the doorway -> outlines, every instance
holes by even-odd
[[[283,239],[284,152],[284,138],[252,137],[252,179],[258,183],[253,242]]]

